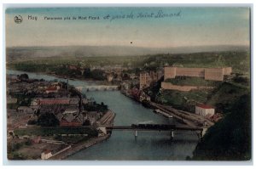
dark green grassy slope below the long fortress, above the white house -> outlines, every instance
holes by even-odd
[[[155,101],[169,104],[177,109],[195,111],[195,104],[210,104],[218,113],[228,113],[234,103],[247,93],[248,88],[231,82],[213,82],[214,89],[192,90],[181,92],[177,90],[163,90],[156,95]]]

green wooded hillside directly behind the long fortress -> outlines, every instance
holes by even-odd
[[[250,53],[240,52],[205,52],[194,54],[159,54],[145,57],[143,65],[179,65],[183,67],[232,67],[233,72],[249,74]]]

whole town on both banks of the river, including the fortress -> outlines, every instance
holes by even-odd
[[[189,100],[186,96],[183,99],[189,105],[180,109],[175,104],[166,105],[157,95],[168,91],[209,92],[220,83],[237,78],[231,67],[165,65],[136,72],[121,65],[90,69],[67,65],[67,70],[72,72],[64,76],[67,82],[31,79],[26,74],[7,76],[9,159],[63,159],[110,137],[111,132],[106,127],[113,127],[115,113],[108,110],[108,105],[87,99],[82,93],[83,87],[69,85],[68,79],[98,76],[98,85],[102,86],[94,87],[94,90],[98,91],[100,87],[102,91],[119,89],[125,96],[154,109],[159,115],[177,119],[190,130],[203,129],[201,138],[208,127],[223,118],[221,109]],[[84,88],[87,92],[93,90],[92,87]],[[31,149],[33,153],[28,155]]]

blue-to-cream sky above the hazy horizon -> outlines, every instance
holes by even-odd
[[[249,13],[237,7],[7,8],[6,46],[249,45]],[[47,20],[54,17],[61,20]]]

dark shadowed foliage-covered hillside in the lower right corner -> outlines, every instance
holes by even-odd
[[[226,115],[210,127],[197,145],[193,160],[248,161],[252,129],[250,94],[240,97]]]

